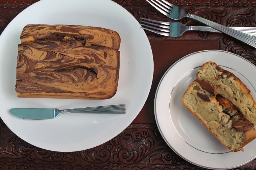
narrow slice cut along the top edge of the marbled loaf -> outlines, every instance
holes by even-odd
[[[101,46],[114,50],[120,48],[120,36],[111,29],[88,27],[80,25],[26,25],[20,35],[22,44],[36,41],[61,41],[75,40],[79,46]]]

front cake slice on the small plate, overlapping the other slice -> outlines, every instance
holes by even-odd
[[[215,85],[195,80],[185,91],[182,103],[227,149],[243,150],[256,138],[254,125],[230,100],[216,95]]]

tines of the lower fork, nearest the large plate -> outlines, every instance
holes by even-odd
[[[143,21],[142,19],[146,20],[146,21]],[[150,23],[150,22],[147,22],[147,21],[151,21],[151,22],[154,22],[154,23]],[[151,32],[154,32],[154,33],[158,33],[160,35],[165,35],[165,36],[168,36],[169,33],[170,33],[170,25],[167,22],[156,21],[156,20],[151,20],[151,19],[146,19],[146,18],[140,18],[140,22],[149,24],[149,25],[140,24],[140,25],[142,25],[143,29],[146,29],[148,31],[151,31]],[[155,23],[158,23],[158,24],[155,24]],[[160,25],[160,24],[162,24],[162,25]],[[155,27],[150,26],[150,25],[154,25]],[[148,27],[148,28],[145,28],[145,27]],[[160,28],[158,28],[158,27],[160,27]],[[152,29],[149,29],[149,28],[152,28]],[[162,28],[165,28],[165,29],[162,29]],[[155,30],[153,30],[153,29],[155,29]],[[160,31],[162,31],[162,32],[160,32]]]

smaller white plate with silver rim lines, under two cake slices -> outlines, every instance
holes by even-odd
[[[181,98],[203,63],[212,61],[235,74],[256,99],[256,67],[226,51],[200,51],[174,63],[163,75],[155,95],[155,119],[166,143],[185,160],[208,169],[231,169],[256,157],[256,140],[244,152],[230,152],[182,104]]]

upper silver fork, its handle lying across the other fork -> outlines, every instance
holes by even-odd
[[[174,19],[174,20],[180,20],[183,17],[190,17],[193,18],[197,21],[200,21],[204,24],[206,24],[209,27],[212,27],[214,29],[217,29],[227,35],[230,35],[240,41],[243,41],[246,44],[249,44],[252,47],[256,48],[256,38],[249,36],[245,33],[242,33],[240,31],[234,30],[232,28],[229,27],[225,27],[221,24],[215,23],[213,21],[204,19],[202,17],[193,15],[191,13],[188,13],[187,11],[185,11],[184,8],[180,8],[177,7],[165,0],[146,0],[148,1],[148,3],[150,3],[151,5],[153,5],[153,7],[155,7],[156,9],[158,9],[158,11],[160,11],[161,13],[163,13],[163,15],[166,15],[167,17]]]

